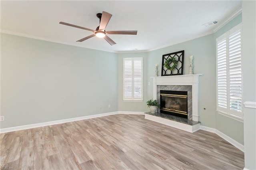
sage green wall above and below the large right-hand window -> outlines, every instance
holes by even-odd
[[[239,14],[233,20],[220,28],[220,30],[214,33],[214,42],[216,42],[216,38],[227,32],[228,30],[232,29],[234,26],[240,24],[241,22],[242,14]],[[214,51],[214,53],[216,53],[216,51]],[[242,67],[244,67],[244,65],[242,65]],[[230,138],[233,138],[240,144],[244,144],[244,123],[220,115],[218,114],[218,112],[216,112],[216,129],[226,134]]]

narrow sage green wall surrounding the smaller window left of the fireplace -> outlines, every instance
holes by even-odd
[[[123,58],[143,57],[143,101],[123,101]],[[145,112],[147,110],[147,53],[118,54],[118,111]]]

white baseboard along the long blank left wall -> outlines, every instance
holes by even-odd
[[[75,118],[70,118],[70,119],[62,119],[62,120],[58,120],[58,121],[36,123],[36,124],[31,124],[31,125],[23,125],[23,126],[18,126],[18,127],[2,128],[2,129],[0,129],[0,133],[12,132],[12,131],[17,131],[17,130],[25,130],[25,129],[29,129],[29,128],[44,127],[44,126],[56,125],[56,124],[60,124],[60,123],[68,123],[68,122],[73,122],[73,121],[80,121],[80,120],[84,120],[84,119],[92,119],[92,118],[96,118],[96,117],[103,117],[103,116],[116,115],[116,114],[118,114],[118,111],[110,112],[110,113],[102,113],[102,114],[97,114],[97,115],[75,117]]]

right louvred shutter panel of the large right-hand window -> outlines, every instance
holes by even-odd
[[[230,110],[242,111],[241,31],[229,36]]]

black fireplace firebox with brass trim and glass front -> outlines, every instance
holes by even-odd
[[[188,119],[188,92],[160,90],[160,113]]]

